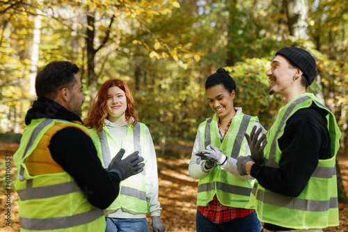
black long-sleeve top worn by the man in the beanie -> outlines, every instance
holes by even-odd
[[[279,167],[254,164],[251,167],[251,176],[267,190],[287,197],[299,196],[315,171],[318,160],[331,156],[331,138],[326,126],[326,114],[315,103],[310,108],[294,113],[286,122],[283,136],[278,139],[282,151]],[[264,224],[264,229],[291,230],[268,223]]]

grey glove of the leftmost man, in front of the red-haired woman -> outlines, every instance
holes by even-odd
[[[144,163],[141,163],[144,158],[138,156],[139,151],[135,151],[122,160],[124,154],[125,149],[121,148],[106,169],[109,172],[116,172],[120,176],[121,181],[129,176],[143,172],[143,167],[145,166]]]

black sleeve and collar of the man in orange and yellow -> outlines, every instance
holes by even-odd
[[[38,118],[79,121],[79,116],[55,101],[38,98],[26,115],[26,124]],[[106,172],[97,157],[93,140],[75,127],[58,131],[49,144],[52,158],[68,172],[84,192],[86,198],[97,208],[107,208],[118,196],[120,177],[116,172]]]

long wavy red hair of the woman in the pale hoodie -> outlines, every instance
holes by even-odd
[[[133,129],[135,124],[138,123],[138,116],[135,112],[134,99],[132,97],[132,92],[129,90],[127,84],[120,79],[110,79],[109,81],[105,81],[102,86],[100,86],[97,96],[94,99],[93,106],[92,108],[90,108],[88,116],[84,119],[85,126],[89,129],[96,129],[98,135],[99,131],[102,130],[103,126],[105,126],[104,118],[108,116],[106,109],[108,90],[109,88],[114,86],[120,88],[121,90],[123,90],[123,92],[125,92],[127,99],[127,110],[125,112],[126,121],[131,124],[131,118],[134,119],[134,122],[132,122]]]

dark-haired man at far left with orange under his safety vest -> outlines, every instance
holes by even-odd
[[[105,231],[102,209],[118,196],[120,181],[143,170],[136,153],[121,160],[124,149],[107,171],[102,167],[80,119],[85,97],[78,72],[77,65],[54,61],[36,77],[38,99],[14,155],[21,231]]]

